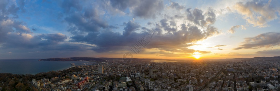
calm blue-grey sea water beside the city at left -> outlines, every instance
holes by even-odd
[[[37,74],[67,69],[75,65],[92,65],[95,62],[86,61],[38,61],[39,59],[0,59],[0,73]]]

